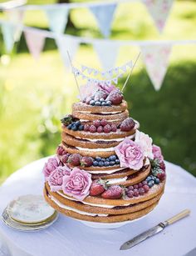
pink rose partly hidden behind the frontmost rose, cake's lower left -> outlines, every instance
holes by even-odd
[[[64,176],[69,176],[71,169],[65,166],[57,167],[51,175],[48,177],[48,184],[52,192],[56,192],[62,189],[62,178]]]

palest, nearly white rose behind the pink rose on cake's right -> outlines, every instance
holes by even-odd
[[[152,138],[149,137],[148,134],[142,133],[139,130],[137,130],[135,133],[135,143],[140,144],[145,154],[145,157],[153,158],[153,140]]]

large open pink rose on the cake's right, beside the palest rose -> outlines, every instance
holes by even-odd
[[[130,138],[125,138],[117,147],[115,153],[120,159],[120,167],[127,167],[139,170],[143,167],[145,154],[139,143],[135,143]]]

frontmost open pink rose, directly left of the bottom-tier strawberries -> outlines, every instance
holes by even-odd
[[[91,183],[91,174],[75,167],[70,176],[63,177],[62,191],[82,201],[89,194]]]

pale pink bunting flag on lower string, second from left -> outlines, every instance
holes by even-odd
[[[42,33],[34,30],[27,30],[24,33],[27,47],[33,58],[38,59],[45,43],[45,37]]]

